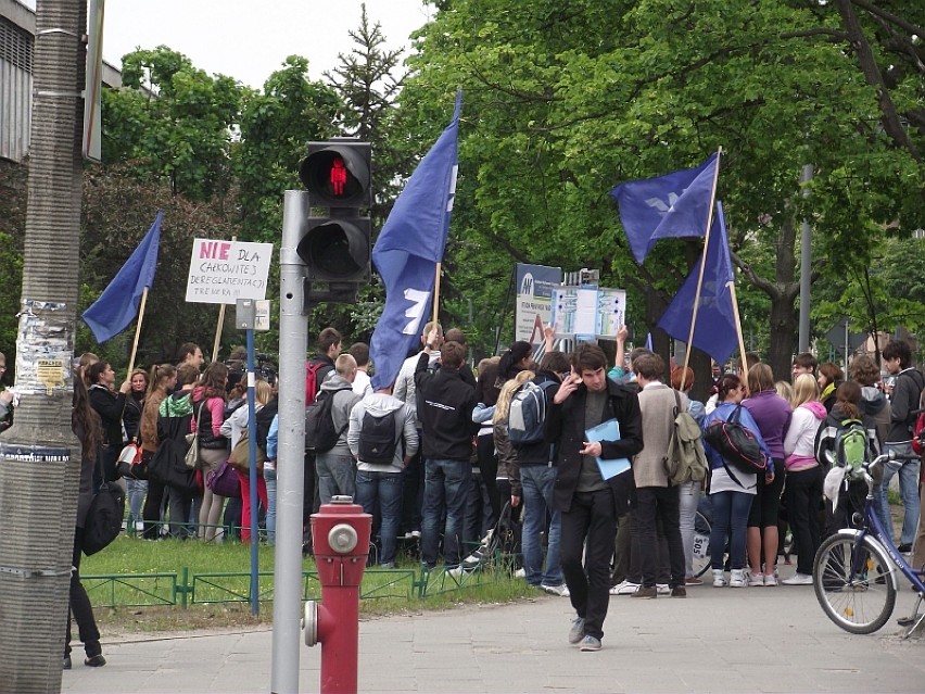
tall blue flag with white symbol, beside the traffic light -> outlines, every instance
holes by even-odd
[[[372,248],[372,262],[385,285],[385,308],[369,344],[373,390],[395,382],[430,306],[456,193],[461,110],[460,91],[453,121],[411,174]]]

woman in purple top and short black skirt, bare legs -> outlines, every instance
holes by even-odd
[[[751,414],[774,459],[758,487],[748,515],[749,585],[777,585],[777,516],[784,491],[784,437],[790,426],[790,403],[777,394],[771,367],[759,362],[748,369],[748,398],[743,405]]]

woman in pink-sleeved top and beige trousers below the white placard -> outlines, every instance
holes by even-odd
[[[202,470],[203,480],[228,459],[228,439],[221,436],[227,384],[228,367],[221,362],[213,362],[203,371],[200,384],[193,388],[192,429],[193,432],[199,432],[197,465]],[[200,538],[206,541],[224,538],[224,532],[216,531],[224,504],[224,496],[213,493],[208,487],[205,487],[202,492],[202,506],[199,509]]]

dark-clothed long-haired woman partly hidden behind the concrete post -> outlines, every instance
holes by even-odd
[[[77,517],[74,529],[74,552],[71,557],[71,589],[67,601],[67,632],[64,641],[64,669],[71,669],[71,621],[77,630],[87,657],[84,665],[99,668],[106,664],[100,645],[100,630],[93,617],[93,607],[80,582],[80,557],[84,544],[84,526],[93,501],[93,469],[97,467],[97,449],[100,445],[100,417],[90,405],[87,387],[80,373],[74,374],[74,396],[71,406],[71,428],[80,440],[80,487],[77,492]]]

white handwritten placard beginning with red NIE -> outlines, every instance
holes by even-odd
[[[193,241],[187,301],[233,304],[239,299],[266,299],[273,243]]]

